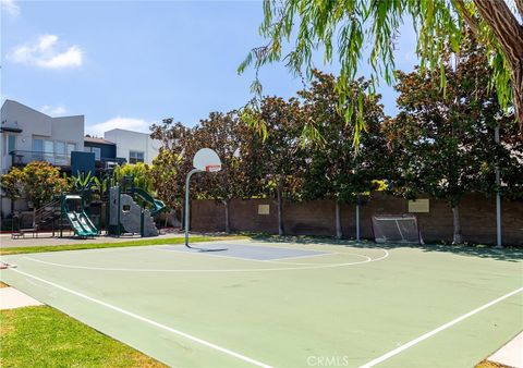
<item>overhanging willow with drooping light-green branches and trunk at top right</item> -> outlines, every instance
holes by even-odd
[[[267,44],[254,48],[240,64],[239,72],[247,65],[260,66],[283,60],[293,74],[305,70],[311,76],[313,52],[323,50],[326,62],[337,56],[340,63],[337,88],[340,106],[355,102],[351,97],[352,84],[360,64],[372,66],[370,79],[394,81],[394,46],[399,27],[404,19],[412,19],[417,32],[417,54],[421,72],[440,70],[438,86],[449,81],[445,76],[446,61],[441,51],[447,45],[460,53],[462,29],[467,25],[477,41],[484,46],[491,66],[491,81],[500,105],[508,108],[512,100],[515,116],[523,127],[523,1],[522,0],[405,0],[405,1],[309,1],[265,0],[264,21],[259,27]],[[511,8],[509,8],[511,4]],[[293,40],[289,52],[287,42]],[[364,49],[370,47],[368,60],[363,60]],[[256,73],[257,75],[258,73]],[[262,95],[258,79],[252,90]],[[351,122],[357,105],[345,110]],[[245,119],[254,121],[247,109]],[[364,122],[358,115],[356,137]]]

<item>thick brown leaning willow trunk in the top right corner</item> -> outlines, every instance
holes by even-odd
[[[523,26],[502,0],[474,0],[474,3],[482,17],[492,28],[509,62],[515,116],[520,122],[520,128],[523,130]],[[522,2],[518,0],[516,4],[521,12]]]

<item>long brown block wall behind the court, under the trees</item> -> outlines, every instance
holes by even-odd
[[[268,206],[268,208],[267,208]],[[502,201],[501,229],[504,245],[523,245],[523,203]],[[268,211],[267,211],[268,210]],[[194,231],[224,231],[224,206],[216,200],[194,200],[191,205]],[[268,213],[267,213],[268,212]],[[344,237],[355,236],[355,207],[341,206]],[[376,194],[361,207],[361,234],[373,237],[373,214],[409,212],[409,201],[386,194]],[[266,214],[260,214],[266,213]],[[496,243],[496,199],[471,194],[460,205],[462,234],[465,242]],[[427,242],[452,241],[452,212],[447,203],[429,198],[429,212],[416,213],[422,235]],[[271,199],[234,199],[230,205],[232,231],[278,233],[276,201]],[[336,210],[332,200],[284,203],[283,226],[289,235],[336,234]]]

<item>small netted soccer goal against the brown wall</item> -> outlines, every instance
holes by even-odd
[[[376,243],[423,244],[413,214],[377,214],[373,216],[373,231]]]

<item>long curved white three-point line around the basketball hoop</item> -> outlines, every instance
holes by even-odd
[[[386,249],[380,249],[385,253],[384,256],[379,258],[368,258],[367,256],[362,256],[368,259],[357,261],[357,262],[345,262],[345,263],[331,263],[331,265],[324,265],[324,263],[315,263],[313,266],[303,266],[303,267],[279,267],[279,268],[245,268],[245,269],[207,269],[207,270],[194,270],[194,269],[139,269],[139,268],[112,268],[112,267],[90,267],[90,266],[74,266],[74,265],[64,265],[64,263],[57,263],[57,262],[48,262],[41,259],[33,258],[33,257],[23,257],[23,259],[27,259],[34,262],[62,267],[62,268],[71,268],[71,269],[81,269],[81,270],[96,270],[96,271],[126,271],[126,272],[180,272],[180,273],[199,273],[199,272],[264,272],[264,271],[296,271],[296,270],[313,270],[313,269],[324,269],[324,268],[337,268],[337,267],[344,267],[344,266],[353,266],[353,265],[362,265],[368,262],[376,262],[382,260],[389,256],[389,253]],[[184,252],[184,254],[195,254],[191,252]],[[199,254],[199,253],[197,253]],[[355,255],[355,254],[351,254]],[[215,256],[210,256],[215,257]],[[277,262],[275,262],[277,265]]]

